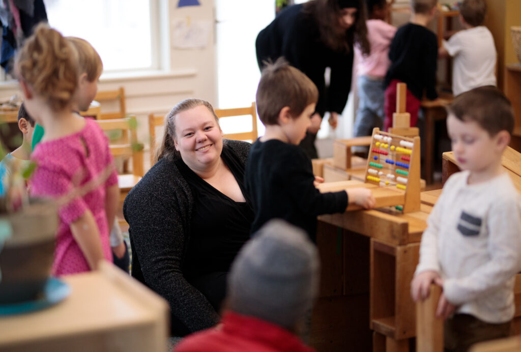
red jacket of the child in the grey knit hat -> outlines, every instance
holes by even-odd
[[[278,325],[232,311],[225,313],[220,328],[211,328],[184,338],[176,352],[315,352]]]

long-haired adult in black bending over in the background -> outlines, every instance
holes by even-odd
[[[316,114],[301,142],[309,158],[317,158],[315,139],[324,112],[331,113],[329,124],[337,127],[351,90],[353,44],[369,53],[365,9],[360,0],[311,0],[284,9],[258,35],[255,42],[257,63],[285,57],[318,88]],[[329,86],[324,74],[331,68]]]

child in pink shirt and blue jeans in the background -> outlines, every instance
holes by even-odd
[[[387,17],[386,0],[366,0],[369,20],[366,21],[367,40],[371,45],[369,55],[362,55],[360,48],[355,46],[358,110],[354,127],[354,136],[366,136],[373,128],[383,127],[383,79],[391,65],[389,60],[389,45],[396,33],[396,28],[383,19]],[[355,151],[363,152],[362,149]],[[367,155],[367,153],[365,153]]]

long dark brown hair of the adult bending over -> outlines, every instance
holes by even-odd
[[[320,40],[326,46],[336,52],[349,53],[356,42],[364,55],[369,54],[370,45],[367,40],[367,27],[365,26],[367,16],[365,6],[360,1],[355,23],[345,31],[339,30],[338,20],[341,9],[338,0],[311,0],[303,6],[307,16],[311,16],[317,21]]]

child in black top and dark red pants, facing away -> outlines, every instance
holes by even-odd
[[[428,99],[436,99],[436,66],[438,40],[426,27],[436,16],[437,0],[411,0],[411,20],[400,27],[389,48],[391,66],[385,86],[385,120],[383,130],[392,127],[392,114],[396,111],[396,84],[407,84],[407,112],[411,126],[418,121],[418,111],[424,90]]]

